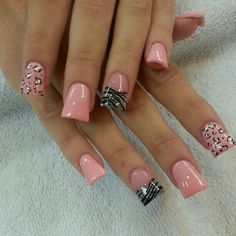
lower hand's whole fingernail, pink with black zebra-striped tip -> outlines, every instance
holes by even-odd
[[[134,169],[130,173],[130,183],[144,206],[164,191],[163,187],[144,168]]]

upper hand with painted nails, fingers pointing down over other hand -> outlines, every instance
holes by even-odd
[[[7,4],[14,4],[17,9],[21,3]],[[25,7],[22,94],[43,96],[52,79],[63,35],[69,32],[64,118],[89,121],[112,20],[114,32],[105,68],[102,106],[125,110],[144,51],[148,66],[168,67],[173,0],[28,0]]]

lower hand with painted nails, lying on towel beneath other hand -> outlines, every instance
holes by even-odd
[[[0,32],[3,33],[0,42],[0,65],[6,78],[15,89],[21,71],[24,10],[24,4],[21,3],[17,12],[5,12],[5,15],[1,14],[0,19]],[[188,23],[189,31],[178,28],[179,24],[177,24],[175,29],[177,33],[174,37],[178,35],[178,38],[181,38],[184,35],[189,35],[190,31],[197,27],[198,23],[195,21],[194,19],[182,21],[184,24],[191,22]],[[162,187],[156,181],[157,177],[151,168],[123,137],[109,112],[96,105],[91,113],[91,122],[88,124],[78,123],[80,130],[77,129],[73,120],[60,118],[60,111],[63,106],[63,65],[66,50],[65,52],[61,50],[60,55],[55,70],[54,86],[49,85],[42,99],[29,97],[28,101],[67,159],[86,177],[88,183],[91,184],[103,176],[104,169],[102,161],[86,137],[103,154],[115,173],[127,186],[137,192],[140,200],[146,205],[162,191]],[[201,144],[205,145],[203,137],[208,138],[208,135],[203,137],[201,135],[205,123],[211,122],[212,127],[206,127],[203,132],[207,132],[211,128],[218,128],[213,125],[213,122],[222,126],[222,122],[214,110],[196,94],[175,66],[171,65],[168,70],[155,72],[144,65],[140,73],[140,82],[177,117]],[[191,151],[185,142],[167,125],[156,106],[140,86],[135,87],[134,96],[130,100],[127,112],[117,112],[117,115],[147,146],[184,197],[192,196],[207,187]],[[208,146],[205,145],[212,151],[225,150],[225,147],[221,147],[221,143],[223,138],[227,142],[228,136],[221,130],[221,133],[218,132],[219,130],[213,130],[214,134],[211,134],[210,139],[208,139],[210,140]],[[220,137],[220,143],[217,146],[212,143],[214,135]],[[228,147],[234,144],[235,141],[228,140]]]

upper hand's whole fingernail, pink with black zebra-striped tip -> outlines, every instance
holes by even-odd
[[[125,75],[118,72],[112,74],[103,90],[101,106],[125,111],[128,86],[128,79]]]

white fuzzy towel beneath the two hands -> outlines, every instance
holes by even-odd
[[[178,14],[191,10],[206,13],[206,26],[176,44],[174,58],[236,136],[236,1],[177,1]],[[160,109],[188,142],[209,187],[184,200],[141,143],[127,133],[160,173],[166,190],[145,208],[107,165],[107,176],[93,187],[86,186],[30,107],[1,76],[0,235],[236,235],[236,150],[214,160]]]

